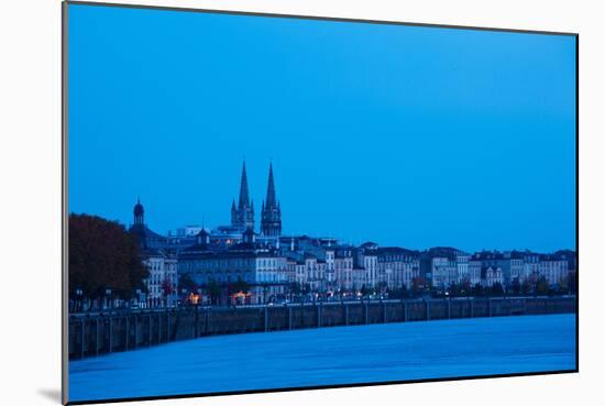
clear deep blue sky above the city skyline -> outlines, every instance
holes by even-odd
[[[575,246],[575,39],[69,6],[69,210],[284,233]]]

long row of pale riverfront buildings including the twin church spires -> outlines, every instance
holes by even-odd
[[[231,206],[231,224],[212,230],[186,227],[161,235],[144,220],[141,201],[134,206],[130,230],[139,235],[148,306],[173,306],[191,293],[179,286],[186,277],[204,293],[220,289],[219,301],[262,304],[315,294],[322,297],[359,295],[432,286],[446,290],[454,284],[510,287],[546,278],[549,285],[575,272],[575,252],[482,251],[454,248],[425,251],[381,246],[374,242],[346,244],[334,238],[282,234],[282,208],[270,165],[261,227],[255,232],[254,204],[250,199],[245,163],[239,199]],[[246,292],[242,292],[245,286]]]

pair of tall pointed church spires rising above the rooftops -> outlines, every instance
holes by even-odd
[[[231,204],[231,226],[242,231],[254,230],[254,202],[250,198],[245,161],[242,166],[240,183],[240,198]],[[275,197],[275,182],[273,179],[273,164],[268,167],[267,195],[261,209],[261,234],[278,237],[282,234],[282,209]]]

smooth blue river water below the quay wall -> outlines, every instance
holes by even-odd
[[[69,400],[575,367],[575,315],[217,336],[69,362]]]

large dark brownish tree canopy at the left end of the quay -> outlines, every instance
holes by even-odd
[[[136,235],[117,221],[88,215],[69,215],[69,294],[102,297],[110,288],[121,298],[144,289],[146,267]]]

